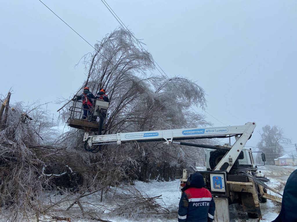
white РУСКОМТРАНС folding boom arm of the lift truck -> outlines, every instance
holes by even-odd
[[[215,136],[241,135],[236,136],[236,142],[230,147],[230,151],[222,158],[215,170],[229,170],[243,149],[249,137],[252,135],[256,127],[255,123],[246,123],[242,126],[224,126],[210,128],[188,128],[188,129],[170,129],[143,131],[132,133],[117,133],[110,135],[89,136],[85,133],[83,141],[87,141],[89,147],[100,144],[116,143],[120,145],[123,142],[133,141],[160,141],[164,140],[166,144],[171,144],[173,140],[179,139],[203,139],[207,137],[214,138]],[[228,163],[228,166],[227,164]],[[222,166],[224,165],[223,169]]]

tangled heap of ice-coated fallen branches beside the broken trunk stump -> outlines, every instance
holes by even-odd
[[[88,206],[90,196],[98,201],[108,200],[114,206],[114,198],[117,198],[116,203],[122,200],[126,205],[126,197],[133,191],[133,198],[138,200],[140,192],[129,185],[133,183],[130,178],[135,177],[131,174],[139,167],[137,161],[102,153],[95,156],[65,147],[63,144],[73,133],[57,135],[52,129],[51,116],[42,107],[39,103],[8,106],[6,125],[0,131],[1,218],[8,221],[34,218],[37,221],[70,221],[70,218],[106,221],[100,216],[104,211],[102,206],[91,209]],[[122,184],[123,181],[127,181],[127,185]],[[117,193],[117,189],[121,193]],[[125,195],[123,190],[127,191]],[[151,207],[144,207],[138,213],[146,215],[153,208],[165,210],[154,198],[143,195],[138,203]],[[121,205],[112,212],[119,212],[118,208]]]

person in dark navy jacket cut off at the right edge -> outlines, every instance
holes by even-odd
[[[297,221],[297,170],[289,176],[282,196],[282,209],[277,218],[272,222]]]

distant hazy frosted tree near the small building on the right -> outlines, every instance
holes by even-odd
[[[266,125],[259,133],[261,140],[257,147],[259,151],[266,153],[267,164],[274,165],[274,159],[280,157],[284,152],[282,145],[290,144],[291,141],[284,136],[282,129],[278,126]]]

